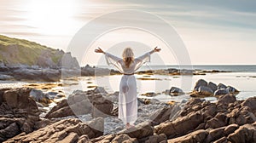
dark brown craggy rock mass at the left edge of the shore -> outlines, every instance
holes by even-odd
[[[35,129],[38,106],[29,97],[31,89],[0,89],[0,142]]]

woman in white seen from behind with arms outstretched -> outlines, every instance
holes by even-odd
[[[124,74],[119,84],[119,118],[126,123],[126,129],[131,128],[131,124],[137,120],[137,83],[134,72],[145,62],[150,61],[150,54],[159,51],[160,49],[156,47],[135,59],[132,49],[126,48],[123,52],[123,59],[121,59],[100,48],[95,49],[96,53],[105,54],[108,65],[112,64]]]

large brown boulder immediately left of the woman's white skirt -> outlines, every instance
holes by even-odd
[[[93,117],[107,117],[112,115],[113,102],[105,99],[97,90],[76,90],[67,100],[52,108],[46,118],[67,117],[91,113]]]

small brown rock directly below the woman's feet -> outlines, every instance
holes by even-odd
[[[149,135],[153,135],[154,129],[151,123],[144,122],[137,124],[134,128],[125,129],[118,134],[128,134],[131,138],[142,139]]]

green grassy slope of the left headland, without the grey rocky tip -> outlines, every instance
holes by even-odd
[[[40,58],[49,58],[56,64],[61,57],[62,54],[56,49],[24,39],[0,35],[0,61],[32,66],[38,65]]]

